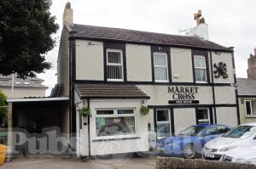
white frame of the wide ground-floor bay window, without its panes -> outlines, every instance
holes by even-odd
[[[113,110],[113,114],[112,115],[97,115],[97,111],[98,110]],[[118,114],[118,110],[133,110],[133,114]],[[137,109],[136,108],[100,108],[100,109],[96,109],[95,111],[95,123],[94,123],[94,127],[95,127],[95,139],[109,139],[109,138],[134,138],[137,137]],[[125,135],[113,135],[113,136],[97,136],[96,135],[96,117],[134,117],[134,123],[135,123],[135,133],[134,134],[125,134]]]

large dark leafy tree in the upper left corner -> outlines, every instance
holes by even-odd
[[[0,1],[0,74],[25,78],[51,68],[44,54],[55,47],[59,26],[50,6],[51,0]]]

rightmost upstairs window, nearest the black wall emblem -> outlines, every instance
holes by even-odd
[[[195,82],[207,82],[206,57],[201,55],[194,56]]]

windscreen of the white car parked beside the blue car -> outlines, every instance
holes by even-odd
[[[230,132],[226,132],[224,138],[247,138],[250,137],[254,132],[256,132],[256,127],[254,126],[239,126],[235,127]]]

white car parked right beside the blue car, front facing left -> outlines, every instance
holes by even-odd
[[[229,149],[256,143],[256,123],[242,124],[205,144],[203,158],[219,160]]]

